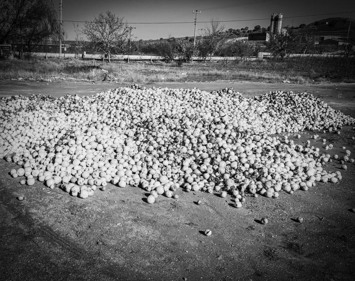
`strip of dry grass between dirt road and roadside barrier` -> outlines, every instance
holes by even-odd
[[[111,63],[59,58],[31,58],[7,60],[0,64],[0,79],[51,79],[53,77],[102,81],[105,74],[112,74],[118,82],[163,82],[163,81],[215,81],[252,80],[280,82],[289,80],[295,84],[308,84],[312,79],[297,72],[270,69],[266,63],[192,63],[177,67],[175,63],[131,62]],[[316,78],[322,82],[323,78]],[[322,80],[322,81],[321,81]],[[354,79],[347,79],[354,81]]]

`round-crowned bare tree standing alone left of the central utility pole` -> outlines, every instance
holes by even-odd
[[[85,22],[81,30],[91,42],[91,50],[107,55],[109,62],[111,55],[125,52],[127,48],[129,28],[123,19],[107,11],[105,15],[100,13],[92,22]]]

